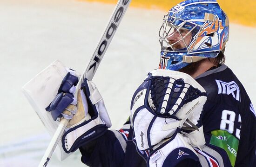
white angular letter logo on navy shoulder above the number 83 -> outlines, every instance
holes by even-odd
[[[219,88],[218,94],[231,94],[237,101],[240,101],[240,90],[235,81],[226,83],[216,79],[216,83]]]

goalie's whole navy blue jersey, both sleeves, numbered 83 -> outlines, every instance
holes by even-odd
[[[188,157],[176,167],[256,166],[256,115],[242,83],[226,65],[195,79],[208,95],[202,111],[206,144],[195,148],[200,163]],[[146,167],[149,154],[136,149],[129,121],[80,151],[81,161],[93,167]]]

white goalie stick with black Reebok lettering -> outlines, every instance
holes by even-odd
[[[108,22],[108,26],[106,27],[104,33],[102,34],[101,39],[94,51],[94,54],[91,60],[79,80],[79,83],[78,83],[79,88],[81,87],[81,83],[85,78],[87,78],[88,80],[92,80],[92,78],[94,77],[94,74],[101,63],[101,59],[103,58],[105,52],[107,51],[108,45],[113,39],[116,29],[119,26],[121,19],[124,13],[126,12],[130,2],[131,0],[118,0],[115,6],[114,12],[112,13],[110,20]],[[68,123],[68,120],[64,118],[61,119],[60,125],[57,128],[52,140],[50,141],[50,144],[43,158],[41,159],[38,167],[47,166],[52,154],[54,153],[54,149],[56,148],[58,142],[61,139],[61,136],[63,135],[63,132],[67,126],[67,123]]]

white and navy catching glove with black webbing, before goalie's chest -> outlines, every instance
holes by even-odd
[[[137,147],[155,149],[178,132],[191,138],[191,145],[203,145],[202,128],[197,125],[206,99],[202,86],[185,73],[150,72],[131,103],[130,118]]]

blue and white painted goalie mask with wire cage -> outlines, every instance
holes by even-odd
[[[175,33],[180,39],[171,43],[168,38]],[[189,35],[188,43],[185,38]],[[178,71],[190,63],[217,57],[229,39],[229,19],[216,0],[185,0],[164,16],[159,37],[162,47],[159,69]],[[175,48],[179,42],[183,48]]]

